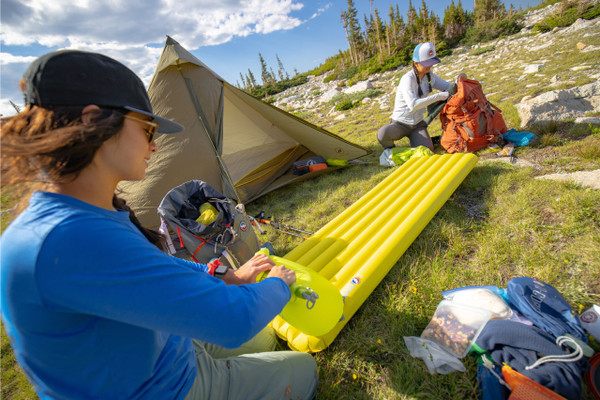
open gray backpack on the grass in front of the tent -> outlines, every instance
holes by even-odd
[[[210,203],[218,212],[209,225],[197,222],[200,206]],[[243,204],[208,183],[192,180],[171,189],[158,206],[161,232],[167,237],[169,252],[176,257],[207,263],[213,258],[239,268],[260,248]]]

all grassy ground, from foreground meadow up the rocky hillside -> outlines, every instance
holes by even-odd
[[[600,55],[579,53],[575,45],[578,41],[600,45],[598,31],[596,27],[559,37],[555,46],[535,54],[515,47],[510,56],[489,64],[485,62],[493,51],[480,55],[465,51],[444,59],[436,71],[451,79],[461,69],[458,60],[467,55],[462,70],[484,82],[484,91],[502,108],[509,127],[518,128],[514,104],[527,94],[556,88],[549,86],[550,77],[559,74],[570,81],[558,88],[589,81],[571,68],[575,62],[597,66]],[[581,37],[584,33],[595,36]],[[502,46],[482,46],[490,45]],[[521,64],[547,61],[541,76],[518,80],[522,69],[508,67],[507,59]],[[376,86],[389,91],[403,72]],[[250,214],[265,210],[283,223],[316,231],[392,172],[377,165],[375,140],[377,128],[387,122],[391,110],[371,103],[346,111],[347,118],[338,121],[326,115],[328,108],[307,113],[307,119],[374,150],[366,159],[371,164],[282,188],[249,204]],[[430,132],[438,135],[439,129],[436,122]],[[540,142],[518,148],[516,155],[537,167],[497,163],[475,167],[335,342],[315,355],[320,365],[319,399],[476,398],[473,360],[464,359],[465,373],[431,376],[421,360],[410,357],[403,342],[403,336],[420,335],[443,290],[466,285],[505,287],[510,278],[526,275],[554,285],[576,311],[600,303],[600,191],[534,179],[542,173],[600,168],[600,131],[571,124],[531,129],[540,134]],[[2,200],[6,209],[8,199]],[[301,241],[266,229],[263,239],[271,241],[279,255]],[[281,346],[285,348],[285,343]],[[1,373],[3,399],[35,397],[14,363],[4,330]]]

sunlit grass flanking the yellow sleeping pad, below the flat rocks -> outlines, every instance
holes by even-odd
[[[248,210],[270,210],[284,223],[315,231],[388,173],[376,166],[336,171],[267,195]],[[280,255],[302,241],[273,231],[265,236]],[[474,399],[472,359],[464,360],[465,373],[431,376],[404,345],[404,336],[419,336],[428,324],[440,293],[506,287],[512,277],[533,276],[579,311],[600,301],[598,260],[599,191],[537,180],[530,169],[480,164],[334,343],[315,355],[318,398]]]

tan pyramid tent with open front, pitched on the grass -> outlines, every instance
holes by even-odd
[[[156,208],[165,194],[189,180],[206,181],[247,203],[305,178],[293,175],[295,161],[313,155],[353,160],[369,153],[228,84],[170,37],[148,93],[157,115],[185,126],[181,133],[159,135],[144,180],[120,185],[149,227],[159,224]]]

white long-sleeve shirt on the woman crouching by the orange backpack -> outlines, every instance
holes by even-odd
[[[451,85],[450,82],[446,82],[433,72],[430,72],[430,76],[433,89],[446,91]],[[402,76],[396,90],[396,101],[392,113],[393,120],[407,125],[416,125],[423,120],[427,106],[435,103],[438,99],[430,96],[427,75],[421,79],[421,90],[423,97],[419,98],[417,77],[414,70],[410,70]]]

